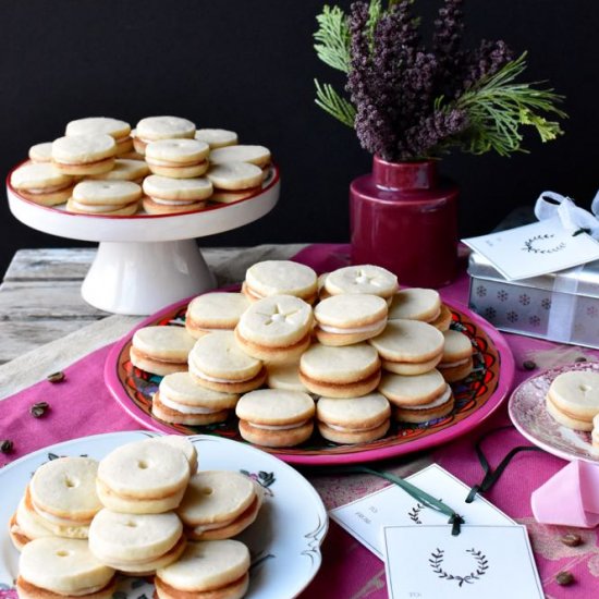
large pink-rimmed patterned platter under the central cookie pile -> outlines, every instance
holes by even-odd
[[[227,291],[236,291],[229,288]],[[105,365],[105,381],[114,400],[135,420],[150,430],[170,435],[217,435],[245,441],[237,432],[234,418],[222,425],[187,427],[171,425],[151,416],[151,394],[156,392],[160,377],[135,368],[129,359],[133,333],[150,325],[181,326],[187,298],[148,317],[121,341],[117,342]],[[453,383],[456,400],[454,412],[427,425],[392,424],[383,439],[357,445],[337,445],[326,442],[317,433],[298,448],[259,448],[290,463],[305,466],[341,465],[384,460],[421,451],[447,443],[476,428],[501,404],[511,389],[514,378],[512,352],[497,329],[465,307],[445,302],[453,315],[452,328],[463,331],[474,346],[474,372],[464,381]]]

